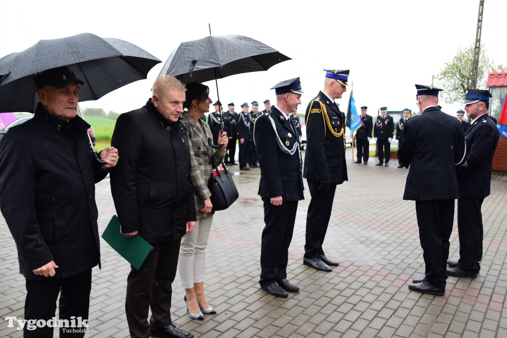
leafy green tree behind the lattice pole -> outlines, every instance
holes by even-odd
[[[436,78],[440,80],[439,87],[444,91],[440,97],[447,103],[461,101],[466,94],[466,89],[471,87],[472,66],[474,64],[474,45],[460,48],[452,61],[447,62]],[[477,72],[477,89],[486,89],[488,71],[492,61],[486,55],[486,49],[481,48],[479,54],[479,69]]]

